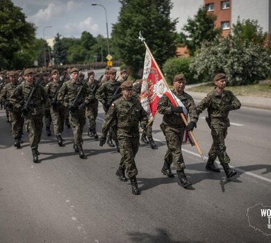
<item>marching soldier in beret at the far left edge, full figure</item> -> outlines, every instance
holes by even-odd
[[[21,138],[24,127],[24,118],[22,117],[22,112],[15,108],[13,106],[13,103],[10,102],[10,96],[11,94],[13,94],[15,88],[19,84],[17,79],[17,73],[13,71],[8,72],[8,78],[10,82],[3,87],[0,99],[3,99],[3,101],[5,101],[6,110],[8,110],[9,113],[8,117],[10,118],[11,135],[15,140],[14,146],[19,149],[22,142]]]

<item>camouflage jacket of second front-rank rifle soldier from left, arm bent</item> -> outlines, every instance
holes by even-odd
[[[72,106],[72,103],[74,102],[74,99],[76,98],[76,95],[82,85],[82,82],[73,82],[72,80],[63,83],[58,92],[58,101],[60,101],[60,103],[62,103],[65,107]],[[90,96],[90,88],[88,85],[84,85],[79,97],[79,104],[85,102],[88,105],[88,103],[90,103]]]

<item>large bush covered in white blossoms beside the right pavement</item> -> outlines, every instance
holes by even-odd
[[[270,51],[263,45],[265,33],[256,40],[258,26],[256,22],[249,23],[249,35],[243,35],[247,21],[238,21],[233,25],[234,34],[202,45],[191,65],[197,76],[211,81],[215,74],[224,72],[229,85],[246,85],[270,76]]]

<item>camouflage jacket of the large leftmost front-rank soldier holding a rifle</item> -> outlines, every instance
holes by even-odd
[[[13,94],[10,96],[10,102],[13,103],[14,110],[20,110],[24,103],[28,100],[35,85],[26,82],[21,83],[16,87]],[[42,85],[38,85],[32,99],[33,106],[29,115],[42,115],[44,106],[48,106],[48,97]]]

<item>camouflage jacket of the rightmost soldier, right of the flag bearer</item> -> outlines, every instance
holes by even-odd
[[[222,123],[229,126],[229,111],[224,110],[227,105],[232,105],[233,110],[238,110],[241,107],[240,101],[231,91],[224,90],[222,93],[217,93],[214,89],[199,103],[197,113],[201,114],[203,110],[208,108],[208,117],[211,119],[211,124]]]

